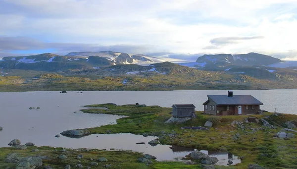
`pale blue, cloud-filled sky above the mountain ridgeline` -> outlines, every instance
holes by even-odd
[[[115,51],[297,60],[297,0],[0,0],[0,57]]]

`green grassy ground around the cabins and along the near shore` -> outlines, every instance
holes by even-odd
[[[247,169],[249,164],[257,164],[263,169],[296,169],[297,166],[297,137],[277,138],[275,134],[287,126],[286,122],[297,123],[297,115],[263,113],[251,115],[259,119],[259,122],[245,122],[247,115],[239,116],[210,116],[196,112],[197,118],[184,123],[164,122],[171,116],[171,108],[161,108],[159,106],[145,105],[123,105],[100,104],[86,106],[90,109],[81,110],[84,113],[104,113],[120,114],[127,117],[117,119],[117,124],[104,125],[95,128],[88,128],[91,134],[108,133],[133,133],[154,135],[159,137],[161,144],[178,145],[195,148],[198,150],[209,150],[219,152],[229,152],[241,158],[241,163],[235,166],[215,166],[216,169]],[[107,108],[96,109],[98,107]],[[262,119],[269,122],[274,127],[269,127],[263,123]],[[203,126],[206,121],[213,122],[209,130],[182,129],[184,126]],[[263,125],[265,124],[265,125]],[[293,125],[294,126],[294,125]],[[285,131],[286,133],[296,133]],[[291,135],[292,135],[291,134]],[[236,139],[234,138],[236,137]],[[36,147],[32,147],[35,149]],[[13,167],[13,164],[5,163],[7,154],[16,152],[21,157],[32,155],[48,156],[44,160],[44,166],[63,169],[67,164],[77,165],[78,154],[83,154],[80,160],[82,166],[90,166],[90,158],[106,158],[107,162],[98,162],[99,166],[91,168],[105,168],[106,165],[112,169],[200,169],[199,160],[193,160],[197,164],[185,164],[183,162],[157,162],[152,160],[152,164],[140,163],[138,158],[143,154],[131,151],[104,151],[104,150],[67,150],[64,155],[67,159],[60,160],[57,157],[61,154],[62,148],[38,147],[39,152],[26,150],[15,150],[15,148],[0,148],[0,167]],[[55,151],[56,150],[56,151]],[[190,157],[185,157],[189,160]],[[252,168],[250,168],[252,169]],[[261,168],[262,169],[262,168]]]

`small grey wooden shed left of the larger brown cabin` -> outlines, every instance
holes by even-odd
[[[192,105],[172,105],[173,117],[196,117],[195,106]]]

